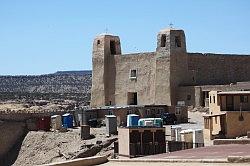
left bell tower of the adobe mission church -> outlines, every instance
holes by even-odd
[[[92,53],[91,107],[115,105],[115,55],[121,54],[118,36],[95,38]]]

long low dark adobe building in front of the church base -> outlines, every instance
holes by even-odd
[[[166,105],[128,105],[128,106],[105,106],[100,108],[86,109],[83,114],[82,123],[88,125],[91,119],[104,120],[106,115],[115,115],[118,126],[126,126],[127,115],[137,114],[140,118],[160,118],[163,113],[175,114],[176,123],[188,122],[187,108],[183,106],[166,106]]]

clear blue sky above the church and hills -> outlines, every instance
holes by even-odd
[[[181,3],[180,3],[181,2]],[[91,69],[92,42],[119,35],[123,53],[155,51],[170,23],[188,52],[250,54],[248,0],[0,0],[0,75]]]

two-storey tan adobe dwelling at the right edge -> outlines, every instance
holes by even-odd
[[[250,91],[209,92],[204,137],[235,138],[250,131]]]

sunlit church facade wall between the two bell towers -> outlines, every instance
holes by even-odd
[[[154,104],[155,52],[115,56],[115,103],[127,105],[128,92],[137,92],[138,105]],[[130,79],[130,70],[137,70],[137,78]]]

